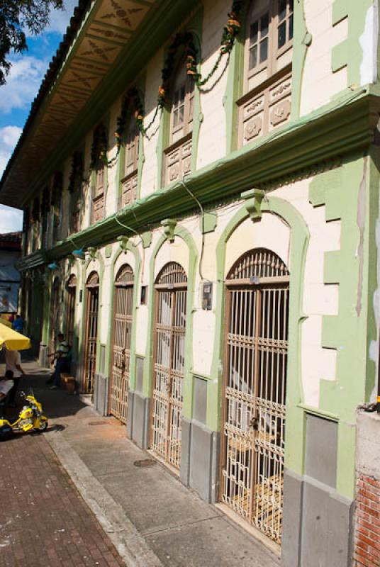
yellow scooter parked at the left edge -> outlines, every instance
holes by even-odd
[[[43,415],[43,406],[35,399],[33,393],[26,395],[22,392],[21,395],[25,398],[26,405],[18,414],[16,421],[11,422],[0,417],[0,439],[9,437],[14,431],[43,432],[47,430],[49,422],[47,417]]]

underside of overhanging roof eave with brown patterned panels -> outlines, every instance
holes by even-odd
[[[198,0],[80,0],[0,181],[21,208]],[[80,115],[80,125],[77,118]]]

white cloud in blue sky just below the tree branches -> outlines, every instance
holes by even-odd
[[[9,114],[13,108],[26,108],[35,98],[47,70],[48,61],[35,57],[11,57],[11,72],[1,86],[0,111]]]

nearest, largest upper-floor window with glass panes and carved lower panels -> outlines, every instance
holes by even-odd
[[[252,1],[245,38],[240,145],[289,119],[294,0]]]

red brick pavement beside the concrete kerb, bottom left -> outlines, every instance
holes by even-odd
[[[43,434],[0,442],[0,567],[125,563]]]

